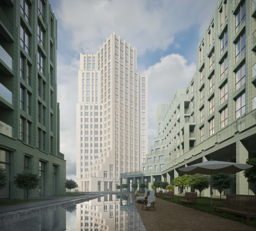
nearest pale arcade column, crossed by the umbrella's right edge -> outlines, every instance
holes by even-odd
[[[248,150],[246,149],[245,141],[236,142],[236,163],[244,163],[249,158]],[[246,178],[243,176],[243,171],[236,174],[236,194],[248,195],[249,185]]]

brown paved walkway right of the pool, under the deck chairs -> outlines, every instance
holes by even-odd
[[[142,194],[141,194],[142,195]],[[135,201],[135,199],[134,199]],[[135,202],[141,219],[148,231],[249,231],[252,226],[228,220],[183,205],[156,198],[156,211],[141,210],[142,204]]]

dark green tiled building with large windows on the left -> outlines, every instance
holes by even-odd
[[[65,193],[59,152],[57,20],[47,0],[0,2],[0,165],[43,178],[29,197]],[[22,198],[13,185],[0,198]]]

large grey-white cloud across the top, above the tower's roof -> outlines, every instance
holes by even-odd
[[[61,23],[61,36],[78,53],[96,52],[115,31],[141,55],[146,50],[167,49],[176,33],[193,25],[205,30],[217,2],[76,0],[70,4],[69,0],[61,0],[55,14]],[[200,36],[203,30],[200,29]]]

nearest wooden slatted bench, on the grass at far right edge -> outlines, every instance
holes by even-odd
[[[240,216],[256,217],[256,196],[226,194],[226,202],[213,202],[215,210],[233,213]],[[216,204],[226,204],[226,207],[216,207]]]

